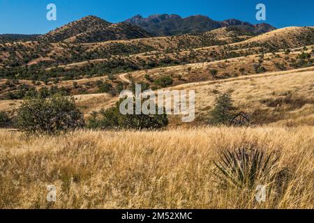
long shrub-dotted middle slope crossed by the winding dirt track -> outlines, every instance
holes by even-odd
[[[306,68],[313,66],[313,48],[313,45],[310,45],[295,49],[281,49],[272,53],[258,53],[260,50],[256,49],[230,51],[225,46],[220,49],[205,47],[176,54],[112,56],[110,59],[69,63],[66,66],[40,70],[38,68],[23,68],[22,70],[9,68],[8,71],[2,72],[6,78],[0,82],[0,98],[20,99],[22,97],[20,95],[32,89],[55,89],[57,86],[65,87],[66,89],[62,91],[70,95],[98,93],[98,80],[110,84],[112,86],[110,90],[117,92],[121,88],[128,88],[131,81],[146,83],[152,89],[159,89],[164,87],[158,84],[158,79],[163,77],[171,78],[173,86]],[[210,55],[214,58],[210,59]],[[223,59],[224,57],[227,59]],[[178,66],[181,63],[184,65]],[[8,80],[12,75],[20,79]],[[121,79],[121,75],[127,75],[129,81]],[[33,81],[26,79],[33,79]],[[75,82],[78,87],[74,87]]]

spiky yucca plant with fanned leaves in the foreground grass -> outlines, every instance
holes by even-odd
[[[222,175],[217,175],[225,183],[237,187],[253,188],[257,180],[271,177],[271,170],[276,166],[278,157],[267,154],[262,149],[238,148],[223,152],[220,161],[214,162]]]

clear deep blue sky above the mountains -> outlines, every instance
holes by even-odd
[[[46,20],[48,3],[56,4],[57,21]],[[0,33],[46,33],[86,15],[121,22],[136,14],[173,13],[256,24],[257,3],[265,4],[266,22],[278,28],[314,26],[313,0],[0,0]]]

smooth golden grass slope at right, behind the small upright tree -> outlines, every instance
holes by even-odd
[[[195,113],[208,120],[217,93],[232,93],[234,104],[257,123],[314,125],[314,71],[312,68],[241,76],[210,82],[181,84],[170,89],[195,90]],[[291,95],[291,104],[269,106],[265,101]],[[298,102],[300,101],[300,102]],[[292,106],[294,104],[294,106]],[[297,104],[297,105],[296,105]]]

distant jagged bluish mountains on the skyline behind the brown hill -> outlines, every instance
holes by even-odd
[[[153,33],[155,36],[174,36],[185,33],[202,33],[225,26],[234,26],[255,34],[266,33],[276,29],[269,24],[250,24],[239,20],[225,20],[223,22],[211,20],[207,16],[193,15],[182,18],[179,15],[151,15],[147,18],[141,15],[126,20],[130,24],[139,26],[140,28]]]

